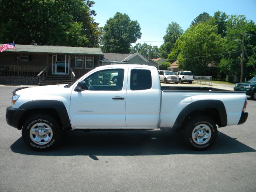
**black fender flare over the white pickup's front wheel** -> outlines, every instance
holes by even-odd
[[[55,109],[60,117],[64,130],[71,129],[71,123],[68,116],[68,112],[63,102],[58,100],[34,100],[22,104],[19,110],[31,110],[31,109],[49,108]]]

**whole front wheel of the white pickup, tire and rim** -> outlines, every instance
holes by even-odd
[[[58,145],[62,137],[62,128],[49,115],[36,114],[28,118],[22,127],[22,138],[32,149],[51,150]]]

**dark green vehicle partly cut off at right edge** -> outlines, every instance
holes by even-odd
[[[256,77],[246,82],[236,83],[234,91],[244,91],[246,95],[250,95],[253,100],[256,100]]]

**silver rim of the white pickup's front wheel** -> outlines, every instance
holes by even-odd
[[[36,123],[30,129],[31,140],[38,145],[48,144],[52,140],[52,128],[45,123]]]

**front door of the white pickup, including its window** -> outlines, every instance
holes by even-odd
[[[84,81],[86,88],[73,88],[70,120],[75,128],[126,128],[125,102],[128,68],[96,71]],[[113,74],[117,76],[112,82]]]

